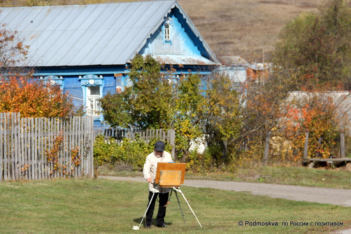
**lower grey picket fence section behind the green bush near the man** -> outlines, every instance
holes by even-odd
[[[168,144],[172,146],[172,157],[174,159],[175,154],[175,139],[176,139],[176,131],[174,129],[146,129],[146,130],[138,130],[138,129],[95,129],[94,137],[98,135],[104,136],[107,141],[110,137],[113,137],[115,141],[121,142],[123,138],[128,138],[130,140],[135,140],[137,136],[139,139],[145,140],[146,143],[149,142],[150,139],[157,139],[167,141]]]

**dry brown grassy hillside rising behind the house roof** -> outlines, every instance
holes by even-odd
[[[69,5],[138,0],[0,0],[0,6]],[[178,0],[217,55],[269,60],[284,24],[324,0]]]

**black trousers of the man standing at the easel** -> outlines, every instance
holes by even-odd
[[[151,205],[146,212],[146,220],[145,220],[146,224],[151,224],[151,222],[152,222],[152,215],[153,215],[153,211],[155,209],[155,201],[156,201],[157,195],[158,195],[158,199],[159,199],[159,206],[158,206],[158,212],[157,212],[157,216],[156,216],[156,224],[161,225],[161,224],[165,223],[165,215],[166,215],[165,205],[167,204],[167,201],[168,201],[168,193],[155,193],[155,195],[151,201]],[[151,197],[152,197],[152,192],[149,191],[149,202],[151,200]]]

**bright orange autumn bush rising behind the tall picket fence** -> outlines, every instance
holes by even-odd
[[[0,112],[20,112],[21,117],[83,115],[58,85],[25,76],[0,77]]]

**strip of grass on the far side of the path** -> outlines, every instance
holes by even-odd
[[[117,171],[113,167],[100,167],[101,175],[142,176],[142,172]],[[271,184],[286,184],[329,188],[351,188],[351,171],[344,168],[306,168],[266,166],[257,168],[238,168],[233,172],[186,172],[185,179],[244,181]]]

